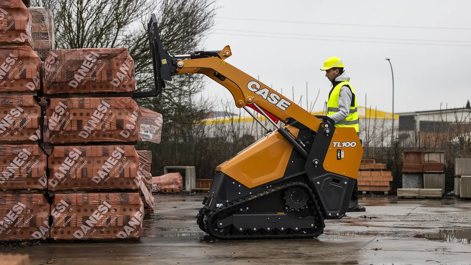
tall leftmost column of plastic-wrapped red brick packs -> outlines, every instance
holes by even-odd
[[[1,241],[49,238],[47,156],[39,146],[42,63],[31,29],[23,1],[0,1]]]

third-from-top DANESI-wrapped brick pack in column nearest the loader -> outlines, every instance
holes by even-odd
[[[49,190],[140,188],[134,146],[56,146],[48,160]]]

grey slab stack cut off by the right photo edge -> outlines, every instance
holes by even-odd
[[[455,158],[455,195],[471,198],[471,158]]]

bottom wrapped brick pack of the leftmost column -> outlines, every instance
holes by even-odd
[[[0,240],[49,238],[49,213],[44,194],[0,194]]]

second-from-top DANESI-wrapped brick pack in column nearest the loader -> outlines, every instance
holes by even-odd
[[[140,114],[131,98],[50,99],[44,141],[134,142]]]

